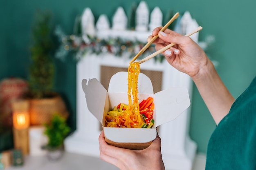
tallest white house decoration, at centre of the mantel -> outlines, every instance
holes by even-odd
[[[141,1],[136,10],[136,31],[148,31],[149,9],[145,1]]]

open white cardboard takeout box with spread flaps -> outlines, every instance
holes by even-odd
[[[185,87],[171,87],[153,93],[150,78],[139,73],[139,102],[149,96],[154,98],[155,109],[153,128],[107,128],[105,115],[119,103],[128,104],[128,72],[118,72],[110,79],[108,91],[96,79],[83,79],[82,88],[85,93],[88,110],[101,122],[108,144],[120,148],[142,150],[147,148],[156,138],[159,125],[173,121],[190,105],[189,93]]]

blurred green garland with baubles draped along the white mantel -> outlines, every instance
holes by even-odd
[[[65,60],[69,53],[72,53],[74,59],[79,61],[84,56],[90,54],[113,54],[117,57],[127,56],[129,58],[133,58],[139,51],[142,49],[146,43],[141,42],[139,40],[126,40],[120,37],[112,38],[108,37],[108,39],[101,39],[97,36],[91,37],[88,35],[78,36],[75,34],[66,35],[60,26],[56,27],[55,35],[58,37],[60,41],[60,46],[56,51],[56,58],[61,60]],[[86,39],[86,42],[85,40]],[[139,59],[148,56],[155,52],[154,45],[150,45],[148,49],[139,57]],[[155,61],[159,61],[162,63],[164,56],[159,54],[154,57]]]

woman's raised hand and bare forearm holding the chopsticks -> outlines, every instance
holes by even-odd
[[[152,36],[148,37],[148,41],[158,34],[159,37],[154,42],[157,50],[170,43],[176,43],[175,46],[162,54],[173,67],[191,76],[218,125],[223,117],[228,114],[231,105],[235,101],[234,97],[220,79],[211,60],[197,43],[190,37],[182,36],[170,29],[162,32],[160,31],[161,28],[155,28]]]

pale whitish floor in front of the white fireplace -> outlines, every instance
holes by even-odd
[[[193,170],[205,169],[205,155],[195,157]],[[64,152],[58,161],[51,162],[46,156],[25,156],[24,165],[9,167],[4,170],[119,170],[116,166],[96,157]]]

